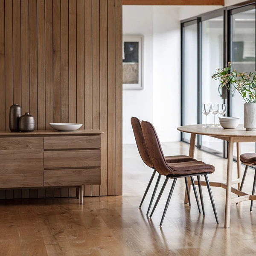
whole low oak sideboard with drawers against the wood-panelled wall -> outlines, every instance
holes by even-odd
[[[78,187],[101,181],[100,130],[0,131],[0,189]]]

